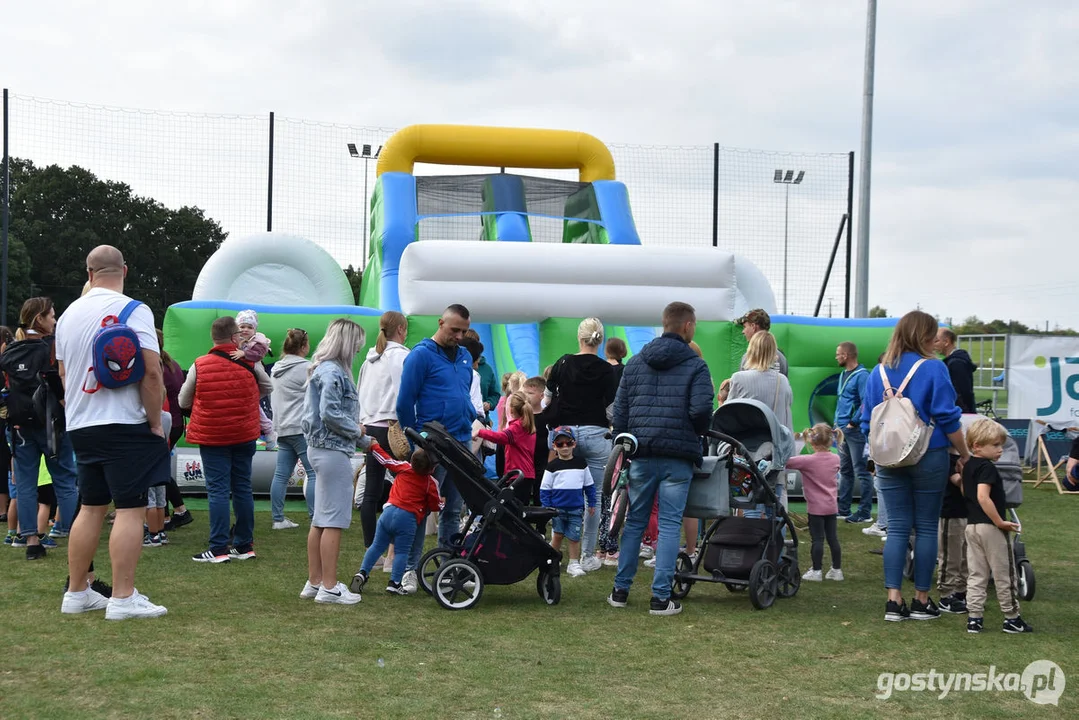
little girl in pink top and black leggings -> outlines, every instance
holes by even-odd
[[[806,499],[809,535],[812,538],[809,549],[812,569],[807,570],[802,580],[843,580],[839,538],[835,533],[835,514],[839,510],[836,500],[839,489],[836,479],[839,474],[839,456],[832,452],[833,443],[843,443],[843,433],[821,422],[807,430],[803,437],[812,448],[812,454],[797,456],[787,462],[788,470],[802,472],[802,492]],[[832,569],[821,578],[825,540],[832,552]]]

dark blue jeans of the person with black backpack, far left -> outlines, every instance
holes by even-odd
[[[70,530],[74,511],[79,505],[79,494],[74,468],[74,450],[67,433],[60,433],[60,446],[55,458],[49,457],[49,445],[44,429],[19,427],[11,431],[15,460],[15,488],[18,497],[18,529],[24,536],[45,532],[49,528],[38,527],[38,473],[41,458],[53,477],[56,505],[60,511],[58,530]]]

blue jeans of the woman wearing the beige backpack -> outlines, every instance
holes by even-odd
[[[937,565],[937,530],[947,485],[947,450],[929,450],[910,467],[877,467],[880,494],[888,503],[888,542],[884,545],[884,585],[900,589],[906,543],[914,530],[914,588],[928,590]]]

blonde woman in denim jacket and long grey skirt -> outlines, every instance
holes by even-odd
[[[364,328],[351,320],[330,323],[312,357],[303,398],[303,437],[318,483],[308,533],[308,582],[300,597],[315,602],[356,604],[360,599],[338,582],[337,567],[341,531],[352,525],[352,456],[364,437],[352,380],[352,364],[364,340]]]

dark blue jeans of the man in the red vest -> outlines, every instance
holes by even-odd
[[[255,499],[251,495],[251,459],[255,440],[237,445],[199,448],[206,476],[206,500],[209,503],[209,548],[215,553],[229,549],[229,494],[236,525],[232,546],[245,551],[251,546],[255,533]]]

